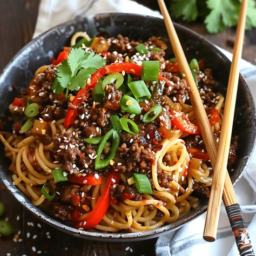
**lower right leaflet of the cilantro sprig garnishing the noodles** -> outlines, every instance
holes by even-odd
[[[69,89],[71,91],[76,91],[85,87],[86,80],[91,78],[91,74],[93,74],[96,69],[87,68],[82,69],[78,72],[78,74],[73,77],[70,81]]]

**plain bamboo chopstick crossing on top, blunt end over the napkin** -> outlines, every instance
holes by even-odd
[[[230,142],[232,136],[235,100],[237,98],[239,64],[242,55],[242,44],[244,42],[246,9],[247,0],[243,0],[238,19],[237,33],[235,35],[233,59],[230,68],[230,77],[228,79],[227,85],[226,101],[223,121],[221,125],[218,153],[212,178],[210,198],[208,201],[208,210],[206,214],[204,229],[205,240],[215,239],[218,228],[221,196],[223,193],[225,170],[227,167],[228,153],[230,151]]]

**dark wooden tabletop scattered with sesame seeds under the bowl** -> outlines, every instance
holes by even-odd
[[[157,9],[156,1],[137,1]],[[0,70],[26,43],[31,40],[38,14],[39,0],[1,0],[0,1]],[[214,44],[232,51],[235,29],[224,33],[209,35],[204,24],[183,23]],[[243,57],[255,63],[256,30],[246,31]],[[0,181],[2,187],[2,181]],[[55,230],[51,226],[26,212],[15,198],[0,188],[0,201],[6,207],[4,218],[14,226],[14,234],[0,239],[0,255],[155,255],[156,239],[140,242],[95,242],[72,237]],[[32,223],[32,224],[31,224]],[[32,226],[33,225],[33,226]],[[15,240],[16,238],[17,240]],[[35,248],[34,248],[35,247]],[[36,252],[33,252],[35,249]],[[40,255],[40,254],[39,254]]]

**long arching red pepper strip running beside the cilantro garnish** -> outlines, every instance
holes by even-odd
[[[91,76],[91,82],[87,84],[85,88],[81,89],[77,93],[77,96],[75,99],[73,99],[72,104],[77,106],[80,102],[83,102],[86,93],[92,90],[97,84],[98,80],[103,76],[108,75],[110,73],[117,73],[117,72],[120,73],[122,71],[125,71],[126,73],[130,73],[136,76],[142,76],[142,66],[139,66],[134,63],[122,62],[122,63],[114,63],[114,64],[106,65],[103,68],[97,70]],[[166,83],[170,83],[170,80],[163,76],[159,75],[158,79],[164,80]],[[76,110],[69,109],[68,112],[66,113],[64,126],[68,127],[73,122],[75,122],[75,117],[76,117]]]

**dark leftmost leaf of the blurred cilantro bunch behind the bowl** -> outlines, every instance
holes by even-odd
[[[194,21],[197,18],[197,0],[171,2],[170,11],[175,18],[183,17],[184,21]]]

